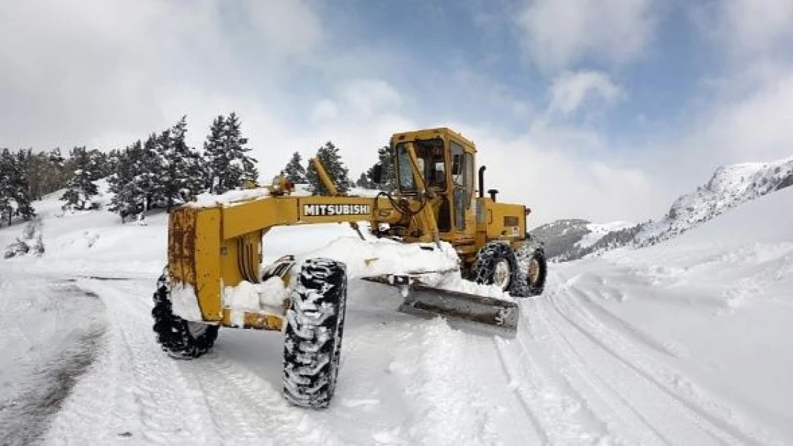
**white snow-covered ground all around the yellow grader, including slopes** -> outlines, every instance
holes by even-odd
[[[122,226],[44,200],[47,253],[0,261],[0,443],[793,444],[791,209],[793,188],[552,264],[514,340],[399,314],[396,292],[351,280],[335,400],[312,411],[281,397],[279,334],[220,330],[192,361],[155,344],[164,215]],[[266,260],[350,234],[280,228]]]

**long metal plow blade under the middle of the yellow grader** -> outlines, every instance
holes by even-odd
[[[520,309],[515,302],[429,287],[411,276],[369,276],[363,280],[400,288],[404,303],[397,310],[402,313],[421,318],[440,316],[465,331],[508,338],[517,334]]]

